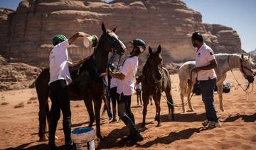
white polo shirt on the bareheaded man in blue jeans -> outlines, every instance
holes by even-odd
[[[196,52],[196,67],[204,67],[210,64],[210,61],[215,59],[213,50],[205,43]],[[214,79],[216,74],[214,69],[198,71],[198,81]]]

